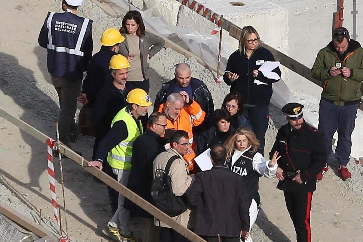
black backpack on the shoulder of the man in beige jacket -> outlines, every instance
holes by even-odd
[[[152,204],[170,217],[178,216],[187,210],[183,198],[173,193],[171,178],[169,176],[170,166],[178,158],[180,157],[170,157],[165,166],[165,170],[157,169],[155,171],[155,177],[158,171],[162,174],[156,177],[151,183]]]

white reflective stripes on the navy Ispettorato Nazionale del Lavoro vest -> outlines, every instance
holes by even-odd
[[[77,39],[77,44],[76,44],[76,48],[74,49],[70,49],[67,47],[58,47],[53,45],[53,40],[52,40],[52,20],[53,20],[53,16],[54,16],[54,12],[51,12],[49,14],[48,20],[47,20],[47,25],[48,25],[48,44],[47,44],[47,48],[48,49],[53,49],[56,52],[66,52],[68,54],[71,55],[76,55],[76,56],[83,56],[83,51],[81,51],[81,46],[83,43],[83,39],[85,37],[86,34],[86,29],[89,23],[89,19],[84,19],[83,23],[82,23],[82,27],[81,27],[81,31],[79,32],[79,36]]]

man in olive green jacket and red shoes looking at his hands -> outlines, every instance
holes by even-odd
[[[346,181],[351,173],[346,165],[351,152],[351,134],[357,109],[360,104],[360,87],[363,81],[363,48],[351,40],[346,28],[333,31],[333,40],[321,49],[311,69],[311,75],[322,81],[323,92],[319,107],[318,129],[323,134],[323,141],[328,159],[332,153],[331,142],[338,129],[338,144],[335,158],[339,164],[339,175]],[[329,168],[326,166],[317,179]]]

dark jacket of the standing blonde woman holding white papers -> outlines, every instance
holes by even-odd
[[[264,48],[256,49],[250,58],[248,59],[246,54],[240,54],[237,50],[229,56],[227,62],[226,71],[238,74],[238,79],[231,81],[227,77],[227,73],[224,74],[224,82],[231,86],[231,92],[238,92],[242,95],[244,104],[252,104],[257,106],[264,106],[270,104],[270,99],[272,96],[272,83],[278,80],[269,79],[264,77],[262,72],[258,72],[257,77],[253,77],[253,70],[260,68],[263,61],[275,61],[272,53]],[[273,70],[281,77],[280,68]],[[266,83],[267,85],[261,84],[257,85],[254,80],[259,80]]]

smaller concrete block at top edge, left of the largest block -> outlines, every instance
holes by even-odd
[[[177,24],[181,3],[175,0],[144,0],[144,2],[147,8],[155,6],[168,24]]]

